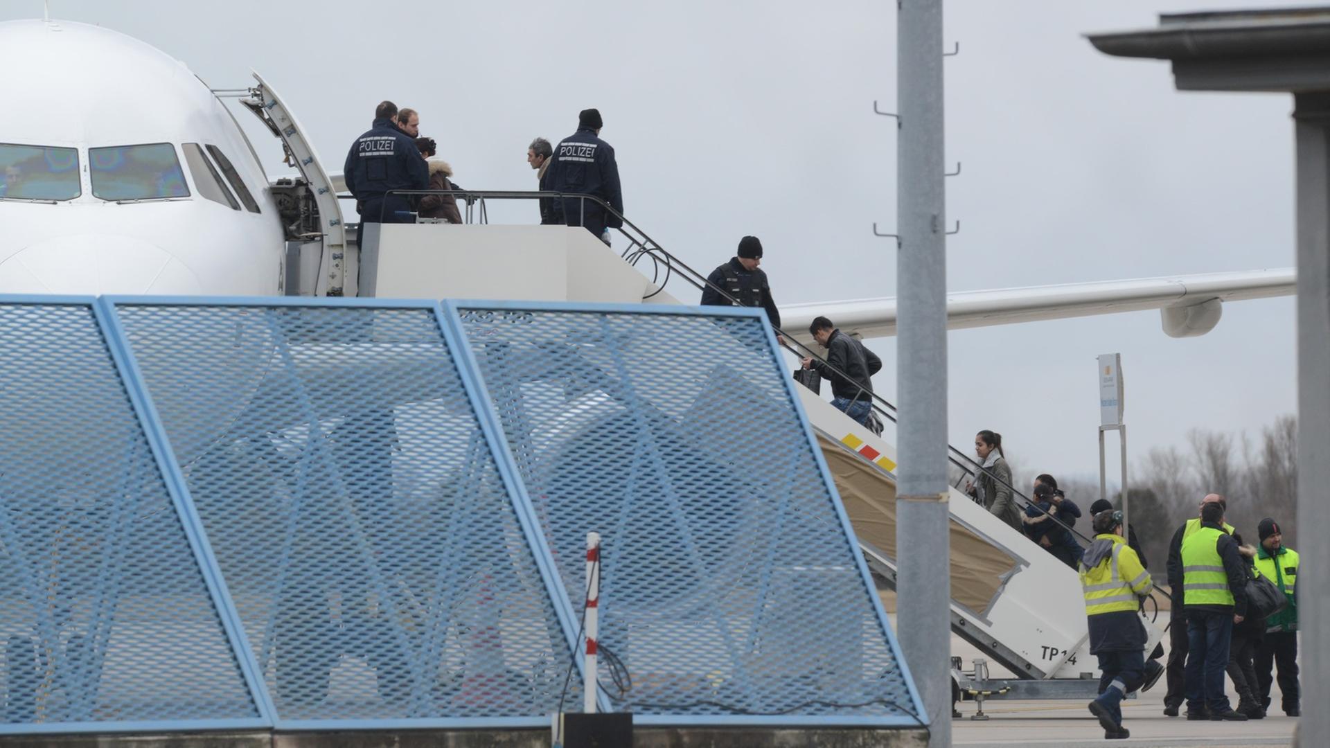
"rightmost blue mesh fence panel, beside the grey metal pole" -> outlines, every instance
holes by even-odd
[[[459,314],[579,614],[602,536],[600,640],[632,676],[616,708],[915,721],[757,317]]]

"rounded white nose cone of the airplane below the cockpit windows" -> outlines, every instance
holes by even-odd
[[[129,237],[78,234],[28,245],[0,262],[0,293],[182,294],[203,291],[162,248]]]

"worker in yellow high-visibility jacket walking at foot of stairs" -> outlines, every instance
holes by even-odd
[[[1145,680],[1145,626],[1140,599],[1150,591],[1150,574],[1123,539],[1123,512],[1101,511],[1091,520],[1095,540],[1081,556],[1089,652],[1099,657],[1105,684],[1089,711],[1109,740],[1129,737],[1123,727],[1123,699]]]

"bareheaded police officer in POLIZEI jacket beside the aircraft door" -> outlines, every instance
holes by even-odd
[[[374,125],[351,144],[346,154],[346,186],[355,196],[360,213],[356,245],[366,224],[404,224],[411,220],[410,196],[386,194],[395,189],[428,189],[430,166],[420,157],[415,141],[398,129],[394,117],[398,105],[383,101],[374,110]]]

